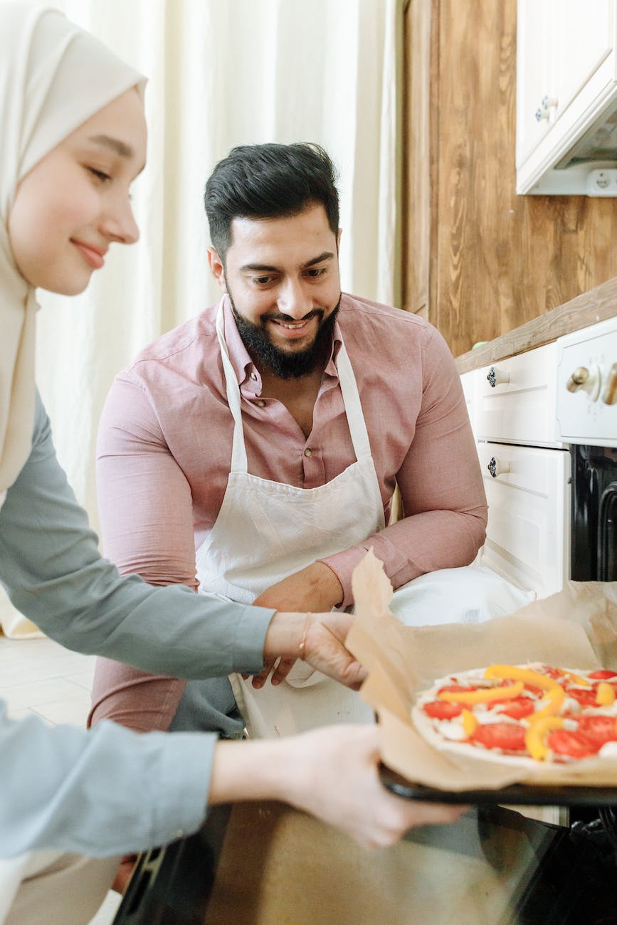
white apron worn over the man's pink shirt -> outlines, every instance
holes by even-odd
[[[361,543],[383,529],[384,510],[364,424],[360,395],[345,345],[337,360],[339,383],[356,462],[315,488],[271,482],[248,472],[241,392],[229,360],[222,307],[216,315],[234,419],[231,471],[216,523],[197,550],[200,589],[242,603],[318,559]],[[249,734],[288,735],[332,722],[370,722],[359,694],[297,662],[278,687],[255,690],[251,679],[230,676]]]

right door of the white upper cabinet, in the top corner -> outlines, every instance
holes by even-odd
[[[550,93],[557,118],[611,54],[613,7],[611,0],[559,0],[554,8]]]

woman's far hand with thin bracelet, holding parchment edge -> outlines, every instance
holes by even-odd
[[[346,687],[357,690],[366,677],[359,661],[345,648],[345,637],[352,626],[350,613],[331,611],[305,613],[277,611],[270,621],[264,643],[264,669],[253,677],[253,687],[262,687],[279,658],[272,675],[272,684],[283,681],[300,655],[304,638],[304,661]]]

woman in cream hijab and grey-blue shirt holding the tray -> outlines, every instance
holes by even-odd
[[[311,619],[120,578],[56,461],[34,385],[34,290],[78,293],[111,243],[137,240],[143,86],[57,11],[0,3],[0,581],[68,648],[184,678],[259,673],[280,656],[275,683],[302,656],[357,687],[345,614]],[[286,800],[364,845],[457,814],[381,788],[376,727],[216,742],[110,722],[49,729],[8,720],[0,704],[0,754],[0,922],[11,925],[88,921],[117,856],[195,831],[206,803]]]

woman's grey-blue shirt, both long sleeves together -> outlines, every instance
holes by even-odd
[[[273,611],[153,588],[101,558],[38,396],[31,456],[0,509],[0,581],[19,611],[68,648],[184,678],[263,664]],[[114,855],[194,831],[215,742],[110,722],[93,732],[50,729],[36,717],[8,720],[0,702],[0,857],[37,848]]]

